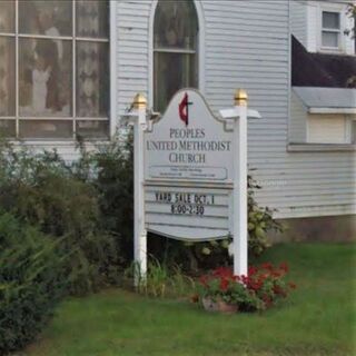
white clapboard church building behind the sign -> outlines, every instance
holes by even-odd
[[[110,140],[137,92],[211,109],[244,88],[256,198],[289,238],[356,237],[356,57],[346,1],[0,1],[0,132],[76,158]]]

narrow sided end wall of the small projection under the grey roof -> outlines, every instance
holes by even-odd
[[[307,110],[300,99],[291,90],[290,92],[290,121],[289,121],[289,142],[306,141],[306,119]]]

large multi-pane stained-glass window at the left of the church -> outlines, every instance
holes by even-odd
[[[0,1],[0,135],[107,137],[109,1]]]

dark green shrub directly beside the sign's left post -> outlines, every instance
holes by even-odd
[[[116,236],[120,264],[130,266],[134,258],[134,146],[132,132],[117,135],[108,145],[81,158],[72,170],[98,194],[100,228]]]

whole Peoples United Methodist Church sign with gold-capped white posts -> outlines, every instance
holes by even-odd
[[[234,274],[247,275],[247,93],[216,117],[195,89],[179,90],[165,115],[147,119],[137,95],[135,125],[136,286],[145,283],[147,231],[204,241],[234,238]]]

